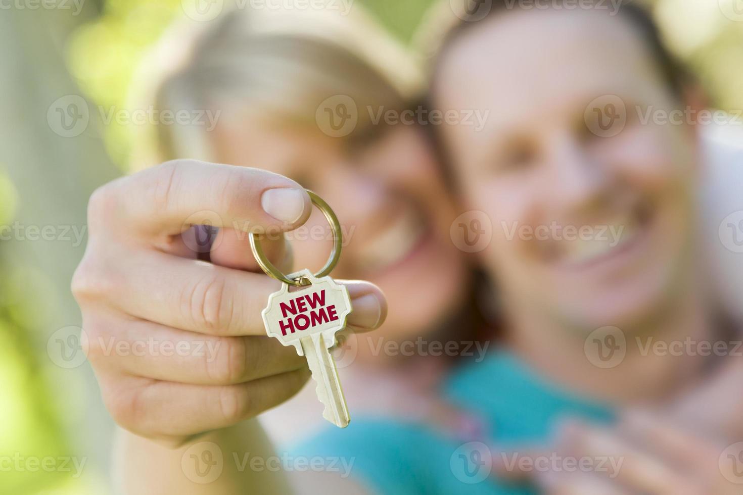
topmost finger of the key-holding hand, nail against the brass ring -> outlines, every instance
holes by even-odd
[[[279,233],[305,223],[310,212],[307,192],[287,177],[198,160],[172,160],[114,180],[88,206],[91,229],[145,236],[201,224]]]

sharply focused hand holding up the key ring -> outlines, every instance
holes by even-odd
[[[94,192],[72,290],[88,360],[117,423],[178,446],[256,416],[302,387],[305,358],[267,337],[261,317],[280,283],[260,271],[247,233],[234,227],[276,234],[301,226],[310,212],[307,193],[286,177],[193,160]],[[220,228],[210,258],[226,266],[196,259],[193,226],[204,223]],[[287,272],[283,236],[272,237],[265,252]],[[378,327],[386,316],[380,289],[342,283],[354,309],[348,327]]]

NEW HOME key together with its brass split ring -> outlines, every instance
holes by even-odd
[[[308,269],[302,269],[284,275],[266,258],[256,234],[250,235],[250,248],[263,271],[283,282],[281,289],[270,295],[262,312],[267,335],[285,346],[294,346],[299,355],[307,358],[318,384],[318,398],[325,404],[323,416],[337,426],[345,427],[350,417],[329,350],[336,343],[335,334],[345,328],[351,300],[348,289],[328,276],[340,258],[343,236],[338,218],[328,203],[313,191],[307,193],[312,203],[325,214],[333,232],[333,251],[319,272],[312,274]],[[299,287],[299,290],[290,292],[292,286]]]

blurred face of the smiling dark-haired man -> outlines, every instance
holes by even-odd
[[[631,22],[504,13],[454,42],[436,84],[437,107],[490,111],[444,139],[464,202],[493,223],[484,264],[507,304],[592,330],[669,301],[688,271],[695,137],[638,117],[679,104]]]

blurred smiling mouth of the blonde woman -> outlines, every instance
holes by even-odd
[[[415,209],[405,209],[357,252],[364,269],[385,272],[410,258],[429,238],[430,229]]]

